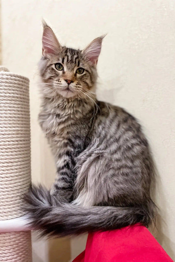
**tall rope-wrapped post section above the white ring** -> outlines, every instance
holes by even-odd
[[[0,220],[5,220],[24,215],[23,196],[31,183],[29,79],[0,71]]]

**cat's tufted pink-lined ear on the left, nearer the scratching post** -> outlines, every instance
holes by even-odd
[[[49,56],[50,54],[60,53],[62,46],[57,40],[53,30],[46,24],[43,23],[43,56]]]

